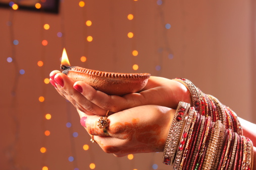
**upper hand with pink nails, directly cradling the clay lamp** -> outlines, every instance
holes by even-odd
[[[52,84],[53,80],[59,84],[56,89],[63,97],[78,110],[90,115],[104,116],[107,110],[119,112],[143,105],[159,105],[176,109],[180,101],[191,103],[190,94],[182,83],[163,77],[151,76],[142,91],[122,97],[96,91],[83,81],[74,82],[57,70],[50,73]]]

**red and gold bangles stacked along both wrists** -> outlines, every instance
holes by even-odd
[[[236,114],[191,81],[176,78],[189,90],[180,102],[167,137],[163,163],[173,169],[252,169],[253,144],[242,136]]]

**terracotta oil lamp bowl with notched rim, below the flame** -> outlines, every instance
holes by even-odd
[[[142,90],[150,77],[149,73],[115,73],[61,65],[63,73],[73,81],[84,81],[94,89],[108,95],[123,96]]]

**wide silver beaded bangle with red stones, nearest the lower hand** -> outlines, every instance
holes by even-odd
[[[174,119],[172,121],[172,125],[170,128],[165,149],[164,149],[164,155],[163,155],[164,164],[167,164],[167,165],[173,164],[173,159],[174,159],[178,139],[179,139],[183,122],[189,107],[190,107],[190,104],[185,102],[180,102],[176,109],[176,113],[174,115]]]

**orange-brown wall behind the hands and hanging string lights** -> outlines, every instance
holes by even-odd
[[[256,122],[252,0],[84,2],[79,7],[79,1],[63,0],[58,15],[0,9],[1,169],[77,170],[90,169],[90,163],[95,169],[170,169],[162,153],[116,158],[90,142],[74,107],[44,82],[60,69],[63,47],[73,66],[188,78],[239,117]]]

